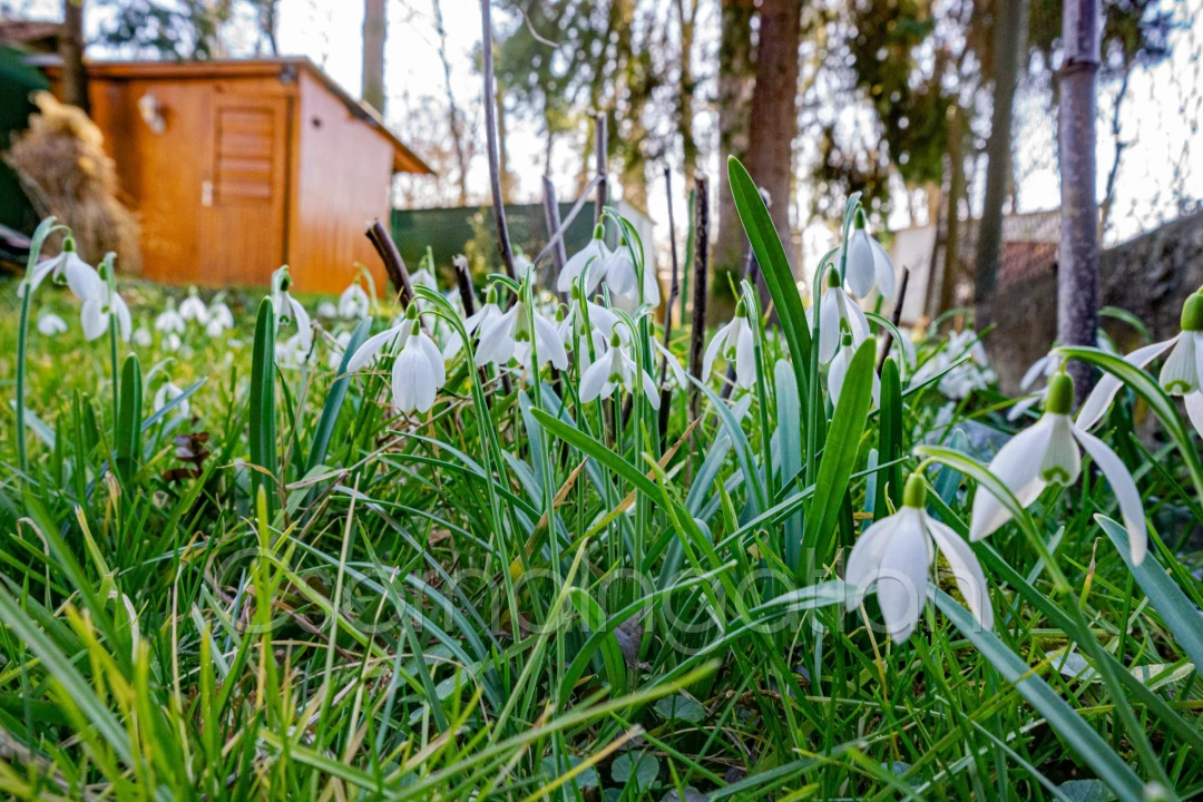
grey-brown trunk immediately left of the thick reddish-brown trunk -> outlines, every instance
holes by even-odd
[[[718,242],[712,255],[716,272],[737,269],[747,237],[727,185],[727,156],[747,159],[748,109],[755,78],[752,52],[754,0],[722,0],[722,41],[718,49]],[[693,173],[686,172],[689,177]]]

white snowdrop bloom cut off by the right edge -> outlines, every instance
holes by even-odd
[[[1171,350],[1173,349],[1173,350]],[[1196,292],[1183,304],[1181,331],[1168,340],[1139,347],[1124,361],[1136,368],[1144,368],[1155,358],[1169,351],[1169,358],[1161,366],[1157,381],[1171,396],[1181,396],[1186,416],[1196,432],[1203,433],[1203,292]],[[1078,412],[1078,426],[1094,428],[1115,399],[1122,382],[1110,373],[1095,385]]]

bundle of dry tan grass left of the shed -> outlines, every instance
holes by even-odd
[[[29,130],[14,138],[5,161],[40,215],[53,214],[71,226],[85,260],[95,263],[117,251],[119,268],[136,272],[137,218],[119,200],[117,168],[105,153],[100,129],[83,111],[49,93],[37,93],[34,102],[38,113],[30,115]]]

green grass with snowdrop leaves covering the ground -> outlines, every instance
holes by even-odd
[[[156,287],[120,289],[135,317],[162,308]],[[11,387],[14,285],[0,297]],[[837,604],[842,559],[899,504],[890,477],[920,463],[929,511],[967,530],[992,455],[978,440],[1015,430],[995,390],[949,402],[903,366],[881,409],[843,397],[832,409],[822,373],[788,357],[787,343],[810,349],[813,333],[794,319],[780,337],[755,327],[753,391],[727,402],[707,386],[691,421],[677,388],[665,430],[641,394],[626,414],[580,403],[575,367],[503,384],[463,355],[428,414],[395,415],[387,360],[332,393],[326,335],[306,368],[274,381],[262,357],[253,364],[259,299],[233,296],[238,322],[224,338],[194,327],[177,352],[158,337],[123,344],[144,403],[136,452],[112,473],[122,427],[108,349],[82,340],[64,291],[40,290],[35,316],[51,307],[71,331],[30,338],[28,402],[41,423],[28,476],[13,462],[13,418],[0,429],[5,794],[1203,791],[1190,637],[1203,601],[1191,531],[1203,517],[1180,448],[1131,436],[1144,404],[1127,392],[1107,438],[1136,469],[1156,564],[1130,570],[1113,545],[1122,531],[1095,521],[1118,518],[1114,495],[1084,470],[974,545],[992,632],[973,624],[942,564],[918,631],[893,643],[876,600]],[[656,334],[646,317],[634,331],[644,345]],[[688,334],[672,337],[675,352]],[[944,347],[930,338],[917,358]],[[651,349],[636,360],[658,362]],[[858,366],[848,381],[867,387]],[[153,415],[166,376],[191,390],[191,417]],[[274,468],[253,432],[271,440]],[[913,451],[924,444],[949,451],[925,459]]]

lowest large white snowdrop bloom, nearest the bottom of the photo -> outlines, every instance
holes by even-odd
[[[866,529],[848,557],[845,581],[853,594],[848,606],[860,605],[869,588],[876,587],[885,630],[895,643],[911,637],[919,623],[935,558],[932,545],[952,566],[970,612],[983,628],[994,626],[985,575],[973,549],[929,516],[926,505],[928,487],[919,474],[912,474],[902,491],[902,509]]]

